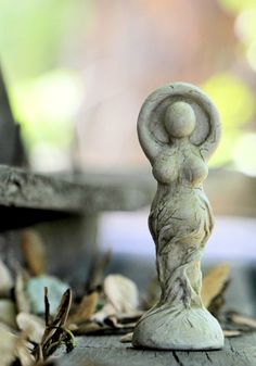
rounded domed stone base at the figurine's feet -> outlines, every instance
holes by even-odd
[[[156,305],[138,321],[132,338],[136,348],[158,350],[219,350],[223,332],[205,307]]]

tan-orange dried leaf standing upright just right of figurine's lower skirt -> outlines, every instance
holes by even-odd
[[[205,307],[209,307],[212,301],[222,292],[227,285],[229,274],[230,266],[222,264],[214,267],[203,278],[201,295]]]

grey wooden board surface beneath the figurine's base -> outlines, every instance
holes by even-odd
[[[256,333],[226,339],[225,349],[208,352],[136,350],[120,343],[117,336],[81,337],[77,348],[63,356],[57,365],[107,366],[254,366],[256,364]]]

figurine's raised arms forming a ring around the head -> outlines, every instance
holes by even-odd
[[[142,104],[138,117],[138,134],[144,152],[148,156],[150,155],[146,151],[150,144],[143,141],[143,129],[149,130],[148,136],[151,136],[155,148],[168,143],[163,126],[163,109],[165,111],[170,103],[177,100],[182,100],[193,108],[196,114],[197,128],[190,140],[208,159],[220,139],[219,114],[214,103],[200,88],[187,83],[172,83],[157,88]]]

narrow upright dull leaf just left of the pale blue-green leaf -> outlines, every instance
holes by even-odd
[[[30,313],[30,302],[26,294],[27,276],[20,270],[16,276],[14,294],[18,313]]]

